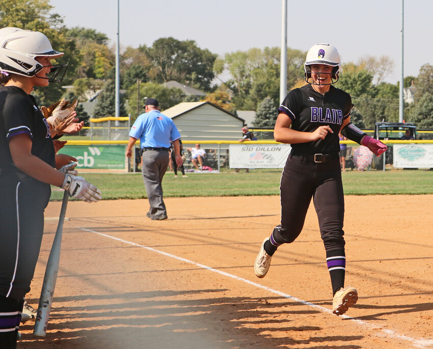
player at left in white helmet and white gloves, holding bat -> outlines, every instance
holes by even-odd
[[[50,184],[87,202],[101,199],[98,188],[75,176],[75,163],[61,167],[48,121],[30,95],[34,86],[60,82],[63,55],[39,31],[0,29],[0,347],[15,348],[24,295],[39,256],[43,212]],[[63,78],[63,77],[62,77]],[[66,118],[69,113],[55,117]],[[62,120],[50,120],[53,124]],[[56,161],[58,160],[58,161]]]

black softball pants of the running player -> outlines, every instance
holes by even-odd
[[[327,163],[314,163],[289,155],[280,191],[281,227],[273,232],[278,244],[291,243],[299,236],[313,198],[326,251],[344,250],[344,196],[338,157]]]

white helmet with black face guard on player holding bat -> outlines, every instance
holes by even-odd
[[[40,33],[40,31],[23,30],[15,27],[0,29],[1,71],[27,77],[35,76],[44,68],[35,59],[38,56],[57,58],[63,56],[63,52],[53,50],[48,38]],[[55,78],[63,68],[67,68],[68,66],[53,65],[50,67],[50,74],[52,75],[46,79],[60,82],[62,79],[56,80]]]

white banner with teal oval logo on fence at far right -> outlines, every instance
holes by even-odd
[[[393,166],[433,168],[433,144],[394,144]]]

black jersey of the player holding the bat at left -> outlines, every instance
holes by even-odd
[[[55,167],[55,150],[49,125],[36,105],[35,98],[16,86],[0,87],[0,170],[2,175],[16,175],[19,180],[31,177],[13,163],[9,139],[26,133],[32,138],[32,154]]]

